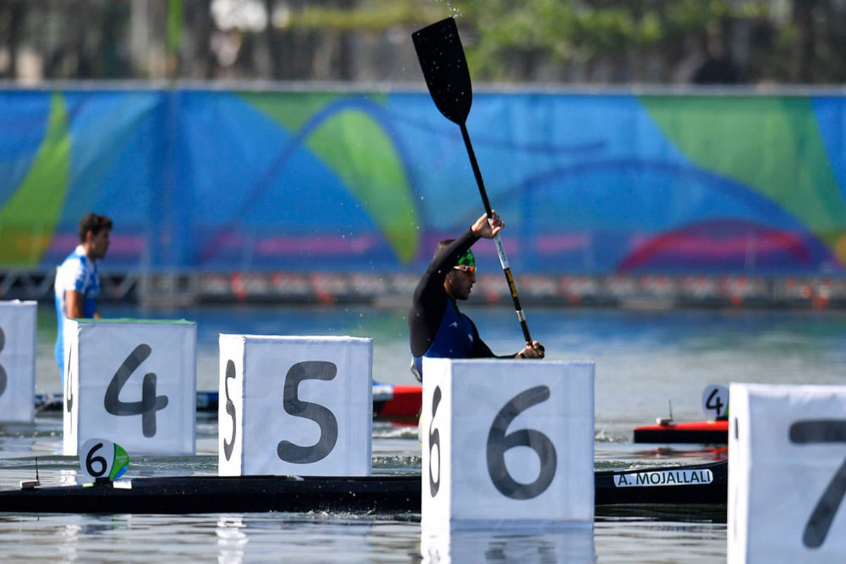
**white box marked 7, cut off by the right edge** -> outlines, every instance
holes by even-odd
[[[728,562],[846,561],[846,386],[729,395]]]

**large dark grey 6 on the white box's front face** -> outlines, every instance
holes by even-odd
[[[520,429],[508,435],[505,434],[508,425],[514,421],[515,417],[547,399],[549,399],[547,386],[530,388],[513,397],[493,419],[491,430],[487,435],[487,472],[491,476],[493,485],[503,496],[514,500],[529,500],[546,491],[552,484],[552,479],[555,478],[558,457],[555,446],[547,435],[534,429]],[[508,468],[505,467],[505,452],[514,446],[528,446],[541,459],[541,472],[531,484],[520,484],[511,477],[511,474],[508,474]]]

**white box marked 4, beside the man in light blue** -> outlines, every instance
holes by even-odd
[[[195,453],[196,325],[65,320],[63,453],[102,438],[130,454]]]

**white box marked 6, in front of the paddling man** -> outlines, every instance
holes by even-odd
[[[423,362],[422,528],[592,526],[593,363]]]

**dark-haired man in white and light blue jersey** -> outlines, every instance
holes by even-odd
[[[81,319],[100,317],[97,313],[97,296],[100,295],[100,275],[96,261],[106,256],[112,220],[95,213],[85,214],[80,220],[80,244],[68,255],[56,271],[54,285],[58,336],[56,337],[56,362],[64,386],[65,318]]]

